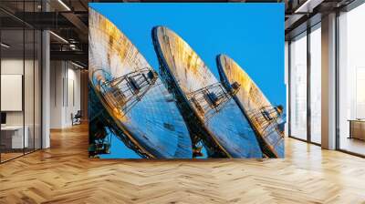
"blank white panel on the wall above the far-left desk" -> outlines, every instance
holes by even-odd
[[[1,75],[1,111],[22,111],[22,75]]]

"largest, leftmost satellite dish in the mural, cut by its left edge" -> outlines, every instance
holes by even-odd
[[[93,9],[89,81],[127,147],[144,158],[193,157],[183,117],[157,73],[127,36]]]

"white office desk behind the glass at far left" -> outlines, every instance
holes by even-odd
[[[29,128],[26,126],[24,129],[26,130],[26,134],[24,134],[23,138],[23,126],[1,127],[1,140],[5,148],[28,148]]]

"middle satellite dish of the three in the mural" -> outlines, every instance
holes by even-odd
[[[245,116],[193,49],[164,26],[152,30],[162,81],[175,97],[193,145],[203,140],[210,157],[262,158]]]

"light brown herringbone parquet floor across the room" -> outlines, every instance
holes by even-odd
[[[88,158],[86,126],[0,165],[0,203],[365,203],[365,159],[287,138],[287,158]]]

